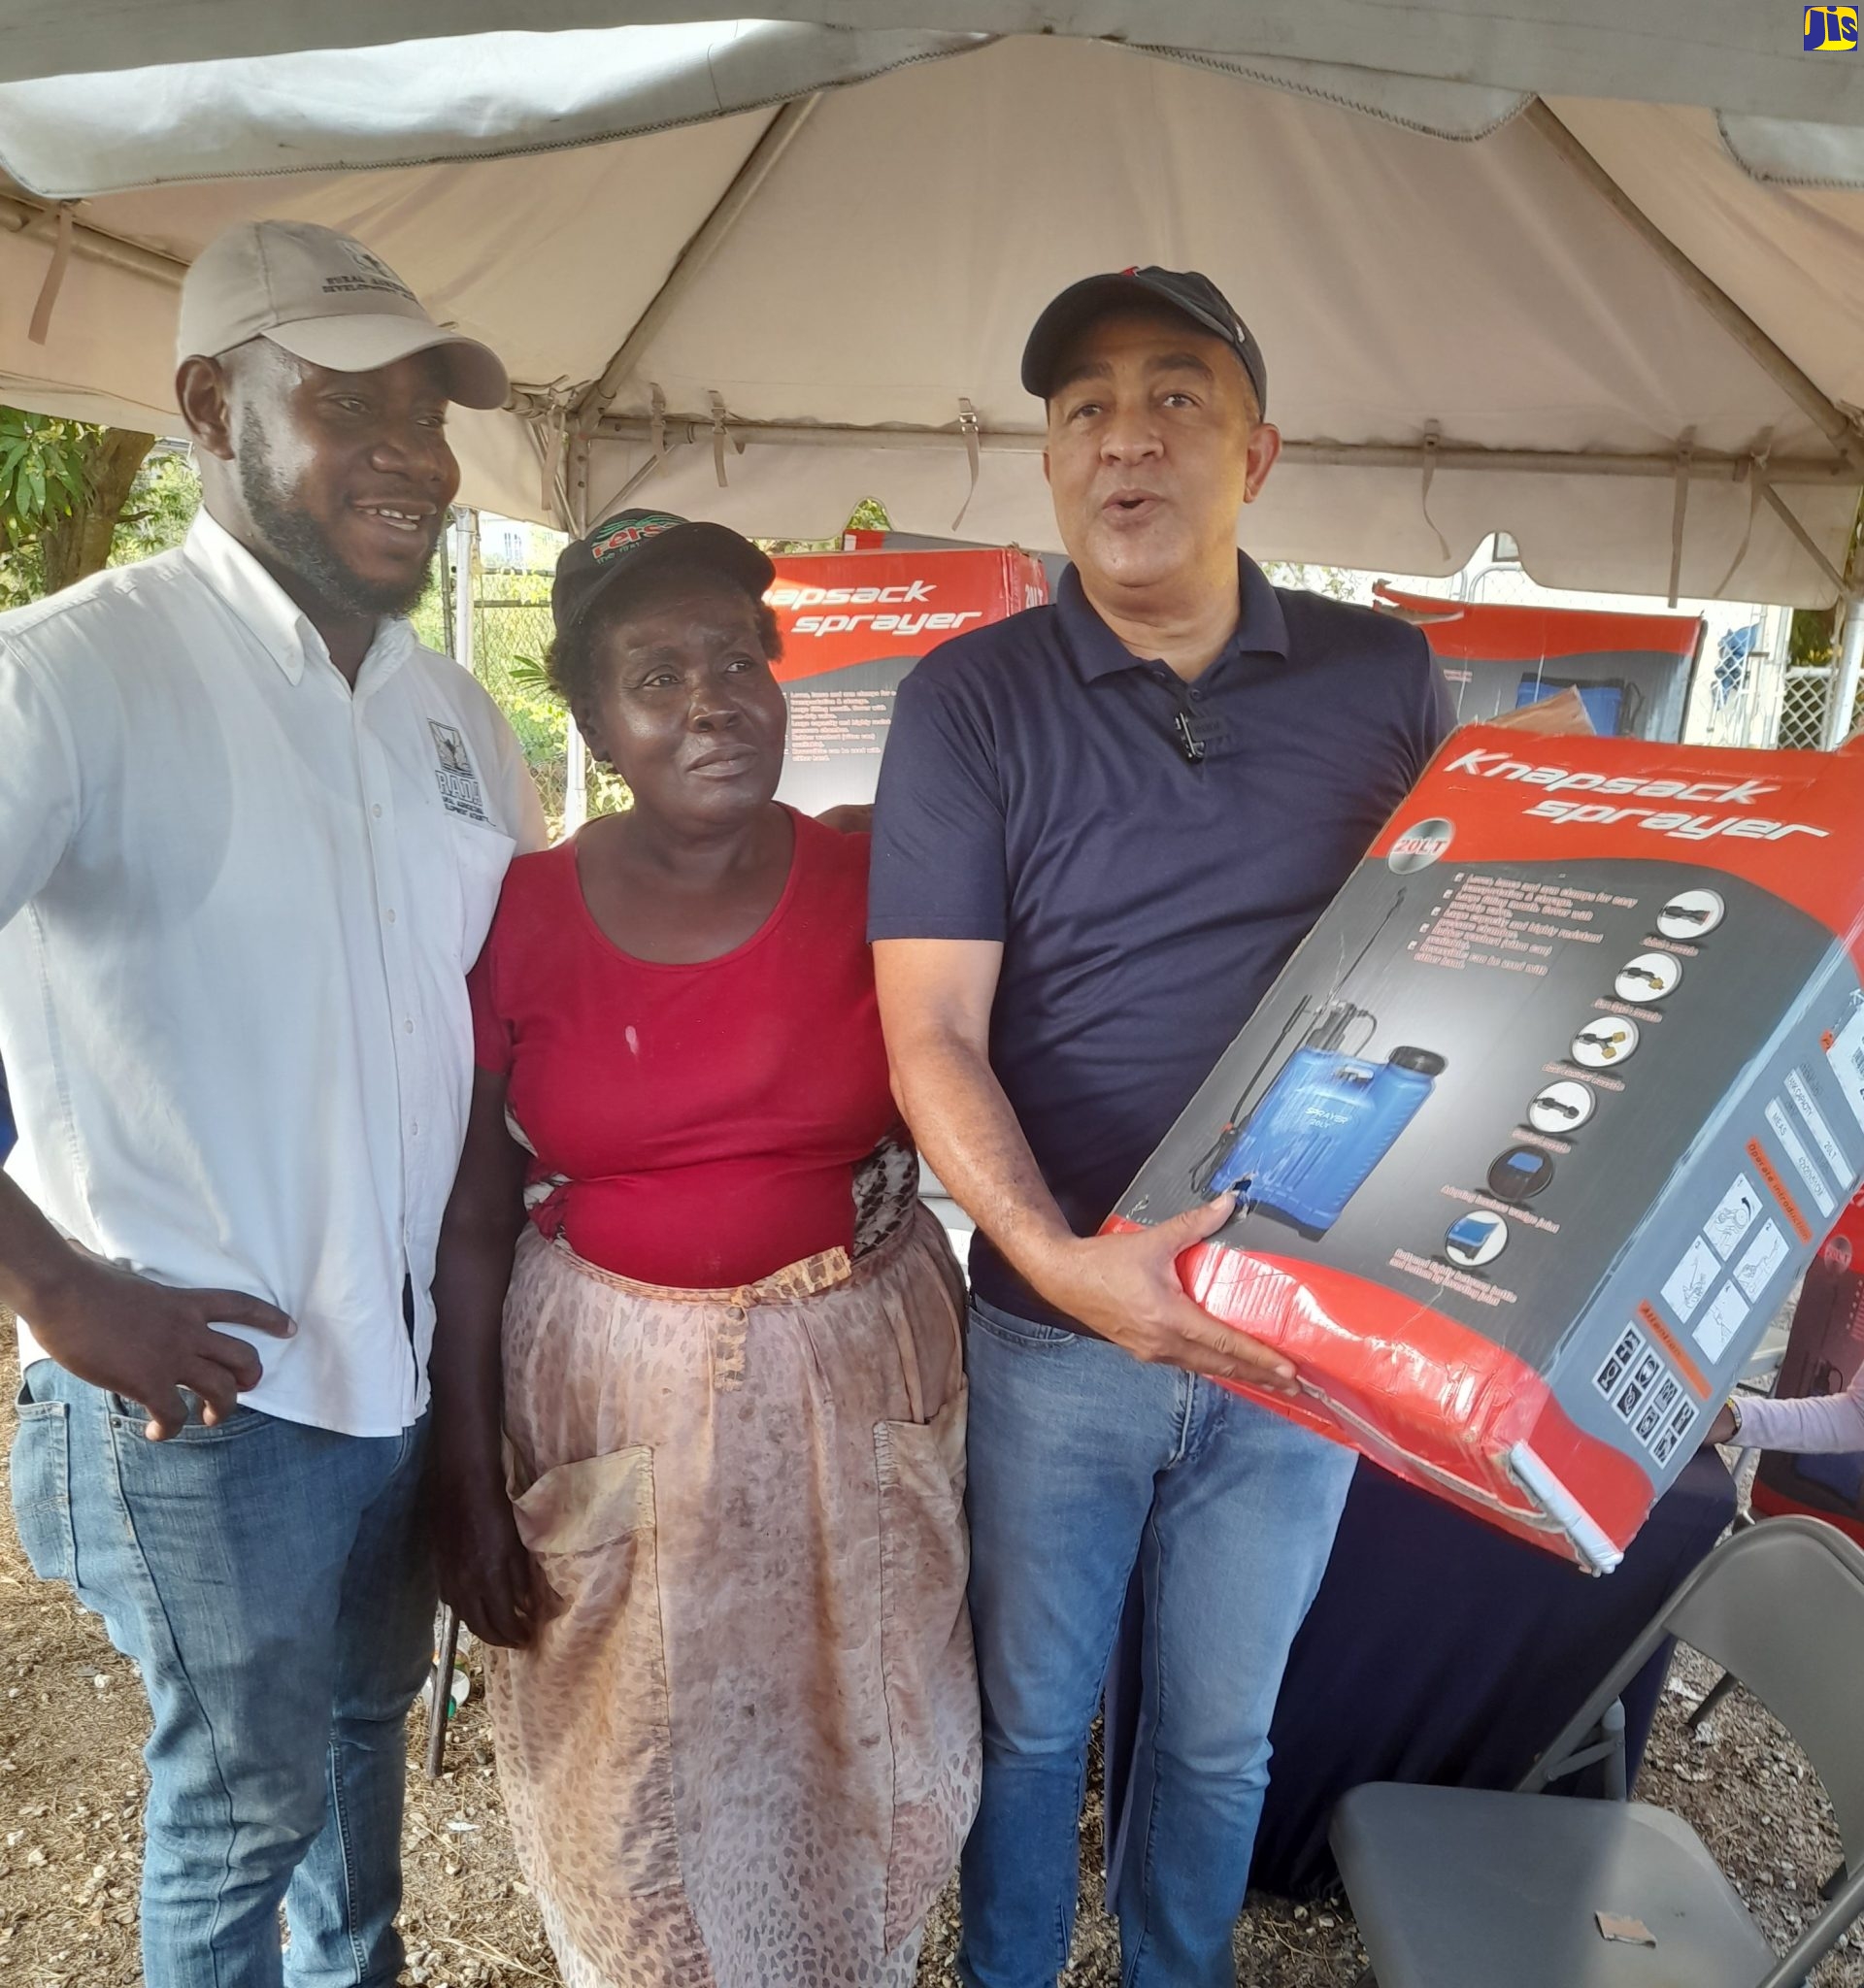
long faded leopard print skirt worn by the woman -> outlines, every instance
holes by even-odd
[[[862,1239],[866,1241],[866,1239]],[[743,1290],[527,1229],[499,1779],[566,1988],[908,1988],[978,1801],[962,1278],[916,1203]]]

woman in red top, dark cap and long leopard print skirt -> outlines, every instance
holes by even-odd
[[[473,970],[441,1584],[570,1988],[904,1988],[978,1791],[962,1282],[866,837],[771,797],[771,577],[652,511],[568,547],[552,674],[634,807],[511,867]]]

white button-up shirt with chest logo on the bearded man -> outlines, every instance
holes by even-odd
[[[143,1276],[288,1312],[292,1340],[240,1334],[254,1408],[350,1435],[423,1411],[465,972],[543,841],[465,670],[386,620],[352,692],[205,513],[0,614],[8,1173]]]

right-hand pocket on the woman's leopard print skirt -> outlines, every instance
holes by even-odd
[[[880,1672],[892,1740],[886,1950],[944,1889],[978,1807],[978,1670],[964,1584],[964,1388],[928,1423],[874,1425]]]

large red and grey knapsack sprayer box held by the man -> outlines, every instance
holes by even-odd
[[[1234,1191],[1254,1398],[1604,1573],[1864,1175],[1860,940],[1850,755],[1463,730],[1109,1227]]]

